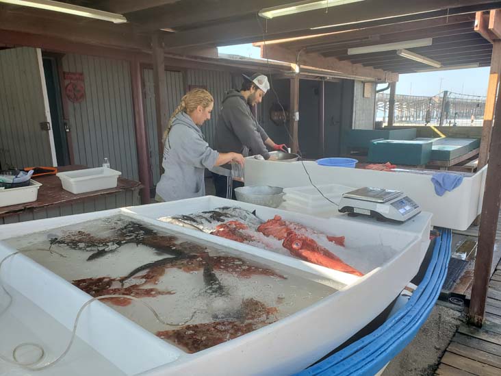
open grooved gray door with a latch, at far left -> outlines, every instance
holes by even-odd
[[[3,168],[52,166],[36,49],[0,51],[0,163]]]

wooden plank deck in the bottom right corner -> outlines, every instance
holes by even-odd
[[[501,262],[489,283],[482,329],[462,324],[435,375],[501,375]]]

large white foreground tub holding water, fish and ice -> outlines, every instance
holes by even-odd
[[[353,266],[370,269],[370,272],[356,277],[157,220],[163,216],[190,214],[224,205],[257,210],[257,216],[263,220],[279,214],[286,220],[303,223],[326,234],[335,229],[335,234],[346,236],[346,248],[359,255],[359,264]],[[16,368],[19,375],[89,374],[95,367],[99,368],[99,364],[105,367],[101,369],[110,370],[106,373],[109,375],[277,375],[300,371],[350,338],[398,296],[418,272],[429,245],[431,225],[431,214],[426,212],[404,225],[394,225],[375,223],[369,218],[321,219],[217,197],[200,197],[3,225],[0,227],[0,240],[26,238],[34,229],[55,231],[58,227],[116,214],[204,240],[224,247],[229,253],[242,257],[247,255],[262,264],[282,265],[284,270],[296,270],[299,274],[308,275],[312,281],[323,284],[329,281],[329,284],[339,286],[339,290],[336,288],[320,301],[275,323],[192,354],[157,338],[104,303],[94,302],[82,314],[77,330],[77,346],[62,362],[37,373]],[[0,242],[0,260],[14,251],[16,249],[8,247],[6,242]],[[77,311],[90,296],[25,255],[15,255],[6,261],[0,271],[0,279],[5,286],[26,298],[25,305],[34,307],[25,310],[23,305],[13,303],[8,312],[2,312],[1,306],[0,323],[8,314],[8,317],[18,321],[19,327],[25,328],[23,330],[33,332],[36,339],[48,343],[51,355],[57,355],[66,345],[68,329],[73,327]],[[47,316],[47,320],[50,318],[55,327],[59,326],[57,333],[62,335],[47,338],[44,325],[34,325],[39,314]],[[18,331],[10,333],[11,347],[27,339],[34,340],[21,336]],[[2,353],[8,353],[7,345],[3,346]],[[0,362],[0,368],[3,366],[5,364]]]

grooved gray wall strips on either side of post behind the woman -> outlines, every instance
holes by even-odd
[[[167,85],[167,110],[172,114],[185,94],[183,73],[165,71]],[[142,71],[144,85],[144,120],[148,128],[148,143],[150,146],[151,176],[154,185],[160,179],[158,159],[157,113],[155,112],[155,87],[153,85],[153,69]]]

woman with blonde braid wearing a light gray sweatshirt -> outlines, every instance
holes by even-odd
[[[243,166],[238,153],[218,153],[203,138],[201,125],[211,118],[214,98],[207,90],[190,90],[170,117],[164,133],[164,173],[157,184],[157,201],[205,196],[205,168],[229,162]]]

